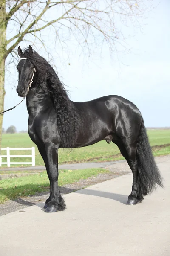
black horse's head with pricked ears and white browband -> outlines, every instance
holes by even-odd
[[[29,46],[29,53],[33,55],[31,46]],[[20,97],[25,97],[28,93],[29,87],[31,86],[36,70],[31,61],[25,58],[20,46],[18,47],[18,55],[20,56],[20,61],[17,65],[19,75],[17,93]]]

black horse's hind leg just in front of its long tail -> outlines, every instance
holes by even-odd
[[[138,169],[137,169],[137,159],[136,159],[136,143],[127,144],[122,141],[113,141],[115,143],[123,157],[127,160],[130,169],[133,174],[133,184],[132,184],[132,192],[128,196],[127,204],[137,204],[142,202],[143,196],[139,195],[139,185],[138,185]]]

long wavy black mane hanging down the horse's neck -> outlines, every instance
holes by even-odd
[[[73,148],[78,137],[78,114],[73,102],[68,97],[67,90],[65,90],[51,65],[36,51],[30,52],[26,48],[23,50],[22,57],[27,58],[36,69],[37,88],[43,82],[46,82],[47,90],[57,113],[57,126],[62,146]]]

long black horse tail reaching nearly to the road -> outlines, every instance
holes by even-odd
[[[140,127],[139,137],[136,144],[137,148],[137,167],[138,167],[138,186],[139,197],[147,195],[159,185],[164,187],[162,177],[154,160],[152,149],[147,137],[144,120]]]

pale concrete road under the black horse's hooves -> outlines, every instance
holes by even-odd
[[[165,189],[126,205],[132,175],[65,195],[64,212],[43,204],[0,217],[0,256],[170,256],[170,156],[158,161]]]

